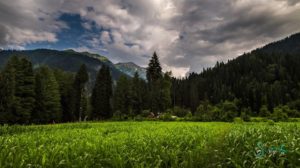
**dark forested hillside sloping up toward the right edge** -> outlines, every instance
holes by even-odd
[[[203,100],[213,104],[235,100],[240,110],[249,107],[254,115],[263,106],[271,112],[279,105],[300,110],[297,103],[300,99],[300,34],[227,63],[218,62],[213,68],[192,73],[186,79],[174,79],[173,84],[175,104],[193,111]]]

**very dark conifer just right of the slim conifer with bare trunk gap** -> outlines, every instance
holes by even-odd
[[[112,117],[111,107],[112,79],[108,66],[102,65],[93,88],[91,105],[93,119],[108,119]]]

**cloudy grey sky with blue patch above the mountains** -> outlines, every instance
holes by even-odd
[[[176,77],[300,32],[299,0],[1,0],[0,48],[74,49]]]

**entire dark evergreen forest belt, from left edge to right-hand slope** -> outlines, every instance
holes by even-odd
[[[0,72],[0,123],[300,117],[299,46],[300,34],[295,34],[183,79],[163,73],[154,53],[147,80],[136,73],[114,83],[103,64],[93,86],[84,64],[74,74],[34,68],[26,55],[11,56]]]

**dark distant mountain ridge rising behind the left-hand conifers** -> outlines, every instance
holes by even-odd
[[[51,68],[59,68],[68,72],[76,72],[81,64],[85,64],[92,79],[91,81],[94,81],[97,71],[104,64],[110,67],[114,80],[118,79],[122,74],[133,76],[133,74],[131,75],[128,73],[128,69],[123,71],[122,68],[115,66],[108,58],[104,56],[88,52],[76,52],[74,50],[2,50],[0,51],[0,68],[5,65],[9,57],[12,55],[28,57],[34,64],[34,67],[47,65]],[[140,67],[135,65],[135,68]]]

